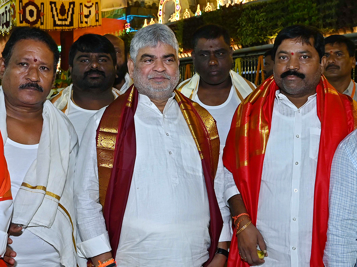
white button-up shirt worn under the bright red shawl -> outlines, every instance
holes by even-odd
[[[320,133],[316,94],[297,109],[277,91],[257,212],[269,255],[265,267],[310,266]]]

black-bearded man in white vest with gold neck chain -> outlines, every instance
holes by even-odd
[[[87,120],[121,94],[112,87],[117,76],[116,52],[104,36],[85,34],[71,46],[69,64],[73,83],[51,102],[67,115],[81,142]]]

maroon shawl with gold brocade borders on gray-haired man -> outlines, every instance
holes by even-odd
[[[222,230],[222,216],[214,191],[220,141],[213,117],[197,103],[175,90],[175,100],[195,140],[202,161],[210,206],[211,246],[208,265],[215,255]],[[113,257],[119,245],[136,157],[134,114],[139,93],[134,86],[108,106],[97,129],[99,201],[103,206]],[[195,216],[195,214],[192,214]]]

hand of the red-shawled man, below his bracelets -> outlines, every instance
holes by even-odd
[[[246,229],[238,234],[237,243],[243,261],[248,262],[251,266],[262,265],[265,262],[258,257],[257,245],[259,245],[261,251],[266,251],[266,245],[262,235],[253,224],[249,224]],[[265,253],[265,256],[267,257],[268,253]]]

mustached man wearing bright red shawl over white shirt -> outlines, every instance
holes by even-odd
[[[356,102],[321,75],[315,28],[284,28],[273,56],[273,78],[238,107],[223,152],[240,192],[228,200],[237,216],[228,267],[323,267],[331,162],[356,129]]]

